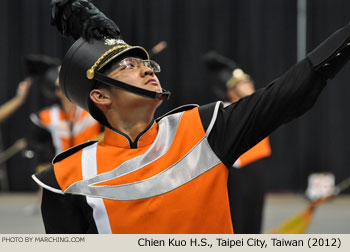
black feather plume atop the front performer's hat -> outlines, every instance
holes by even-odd
[[[64,36],[120,38],[118,26],[88,0],[52,0],[51,23]]]

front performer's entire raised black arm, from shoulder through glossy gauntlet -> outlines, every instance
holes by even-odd
[[[221,161],[233,162],[274,129],[310,109],[327,79],[350,58],[350,23],[333,33],[307,57],[267,87],[230,106],[219,108],[208,136]],[[209,125],[213,106],[199,108],[203,126]]]

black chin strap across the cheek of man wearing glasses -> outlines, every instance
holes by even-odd
[[[170,97],[170,92],[166,91],[165,89],[162,89],[163,92],[155,92],[155,91],[150,91],[150,90],[146,90],[143,88],[139,88],[139,87],[135,87],[129,84],[126,84],[124,82],[120,82],[117,81],[113,78],[110,78],[104,74],[101,74],[99,72],[95,72],[95,76],[94,79],[97,81],[100,81],[102,83],[105,83],[107,85],[112,85],[115,86],[117,88],[120,88],[122,90],[140,95],[140,96],[144,96],[147,98],[151,98],[153,100],[168,100]]]

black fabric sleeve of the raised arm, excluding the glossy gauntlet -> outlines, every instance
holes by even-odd
[[[307,59],[301,61],[267,87],[225,108],[220,106],[208,136],[209,144],[231,167],[241,154],[278,126],[310,109],[325,83]],[[209,107],[199,111],[205,118]]]

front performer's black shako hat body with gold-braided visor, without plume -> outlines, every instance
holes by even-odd
[[[89,111],[89,93],[100,77],[96,73],[101,74],[100,70],[104,66],[127,52],[148,59],[145,49],[127,45],[121,39],[92,39],[89,42],[78,39],[66,53],[61,66],[59,79],[63,93],[69,100]]]

